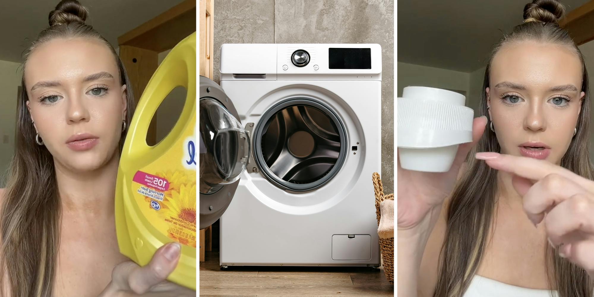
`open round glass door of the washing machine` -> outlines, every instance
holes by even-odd
[[[219,84],[200,77],[200,229],[225,212],[250,153],[249,136]]]

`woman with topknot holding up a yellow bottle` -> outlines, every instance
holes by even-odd
[[[119,253],[113,193],[134,109],[122,61],[64,0],[25,53],[17,142],[0,192],[4,296],[195,296],[166,282],[178,243],[146,267]],[[115,268],[114,268],[115,267]]]

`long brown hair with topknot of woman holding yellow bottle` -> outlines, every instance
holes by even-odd
[[[99,40],[113,53],[119,68],[119,81],[126,84],[126,127],[134,113],[134,97],[128,75],[113,46],[93,27],[84,23],[88,11],[78,1],[65,0],[49,14],[50,27],[41,31],[24,55],[27,57],[43,43],[53,39],[83,38]],[[31,66],[33,67],[33,66]],[[27,110],[27,87],[18,98],[15,150],[8,172],[7,188],[1,206],[0,288],[2,295],[52,296],[56,256],[59,248],[61,204],[52,154],[36,144],[36,130]],[[124,144],[122,132],[119,150]]]

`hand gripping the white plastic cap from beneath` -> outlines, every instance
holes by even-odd
[[[402,169],[398,163],[398,230],[415,228],[430,210],[443,204],[456,184],[460,166],[466,155],[485,131],[486,117],[475,118],[472,125],[472,143],[460,144],[450,171],[443,173],[419,172]]]

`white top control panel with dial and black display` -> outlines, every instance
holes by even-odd
[[[381,80],[375,43],[227,43],[220,61],[221,80]]]

